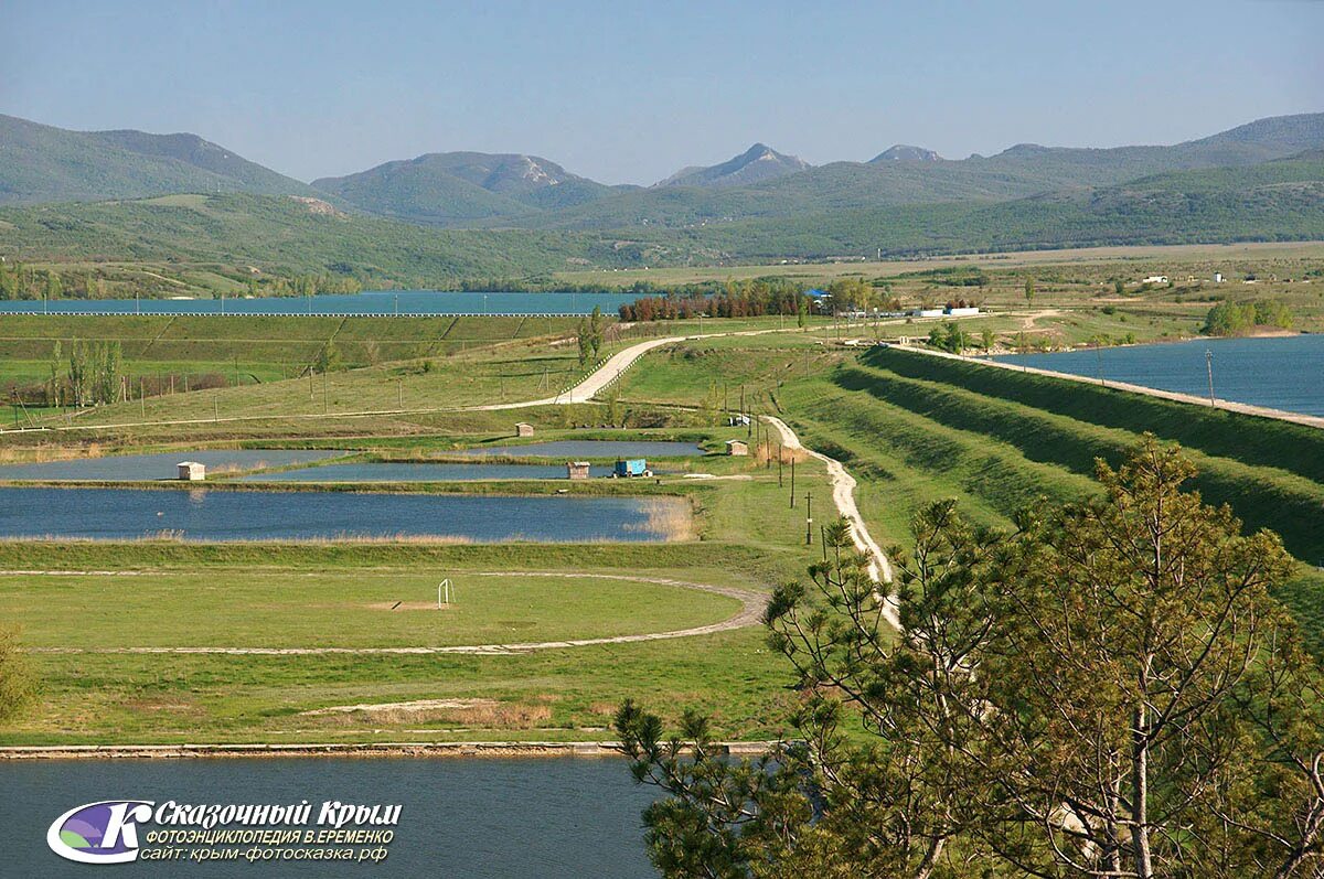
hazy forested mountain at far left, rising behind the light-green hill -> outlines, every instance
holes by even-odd
[[[175,192],[312,195],[306,184],[197,135],[68,131],[0,115],[0,204]]]

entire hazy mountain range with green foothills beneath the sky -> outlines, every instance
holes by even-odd
[[[755,144],[651,187],[482,152],[305,184],[196,135],[0,116],[7,203],[0,255],[244,259],[369,285],[557,266],[1324,238],[1324,114],[1165,147],[1018,144],[960,160],[898,144],[870,162],[810,165]]]

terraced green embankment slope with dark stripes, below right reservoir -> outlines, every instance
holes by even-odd
[[[884,539],[903,540],[912,512],[940,498],[989,524],[1079,498],[1095,490],[1098,458],[1116,465],[1151,432],[1186,449],[1206,502],[1324,563],[1324,436],[1311,428],[895,349],[790,384],[779,401],[810,443],[847,462]],[[1282,598],[1324,649],[1324,576],[1303,565]]]

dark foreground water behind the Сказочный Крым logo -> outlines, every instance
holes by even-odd
[[[636,785],[626,764],[616,759],[33,760],[0,764],[0,789],[4,862],[21,866],[26,879],[97,872],[52,853],[46,829],[74,806],[113,798],[401,806],[389,855],[379,864],[139,860],[111,868],[117,875],[657,876],[645,855],[639,818],[654,789]]]

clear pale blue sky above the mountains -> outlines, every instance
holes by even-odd
[[[311,180],[531,152],[651,183],[763,140],[1173,143],[1324,110],[1324,3],[0,4],[0,113],[192,131]]]

